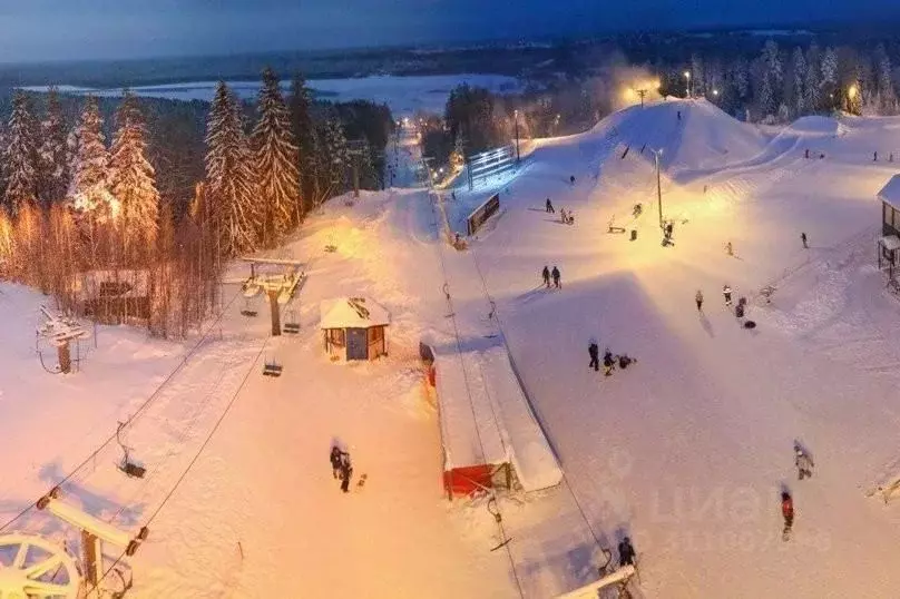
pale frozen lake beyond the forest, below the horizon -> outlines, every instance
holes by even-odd
[[[417,110],[443,112],[450,91],[463,82],[483,87],[495,92],[516,91],[521,87],[521,82],[513,77],[476,73],[411,77],[381,75],[350,79],[311,79],[307,81],[310,88],[315,91],[316,97],[320,99],[334,101],[372,100],[387,104],[394,115],[411,115]],[[253,99],[260,89],[260,81],[228,81],[228,85],[238,97],[245,100]],[[282,81],[282,87],[285,90],[290,86],[290,80]],[[151,98],[209,101],[213,98],[215,87],[216,81],[194,81],[140,86],[133,89],[139,96]],[[94,94],[105,97],[120,96],[124,89],[97,89],[68,85],[60,85],[58,88],[67,94]],[[35,86],[26,89],[46,91],[47,87]]]

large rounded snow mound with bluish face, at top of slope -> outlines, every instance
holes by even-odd
[[[679,117],[681,115],[681,117]],[[601,120],[594,129],[628,153],[653,160],[662,149],[667,170],[721,168],[759,155],[766,138],[706,100],[664,100],[633,106]]]

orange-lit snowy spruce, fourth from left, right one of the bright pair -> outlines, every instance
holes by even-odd
[[[147,131],[137,98],[126,91],[116,111],[116,135],[109,150],[109,190],[121,206],[121,234],[127,256],[147,256],[156,239],[159,192],[147,160]]]

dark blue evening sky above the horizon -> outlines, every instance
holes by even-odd
[[[0,0],[0,61],[900,18],[900,0]]]

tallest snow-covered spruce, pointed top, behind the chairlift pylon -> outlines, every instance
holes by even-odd
[[[256,110],[251,145],[264,209],[262,242],[272,246],[300,219],[300,176],[290,114],[271,68],[263,71]]]

